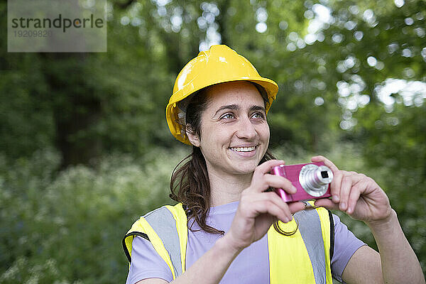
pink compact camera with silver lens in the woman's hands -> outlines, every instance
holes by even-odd
[[[272,168],[271,174],[287,178],[296,187],[297,192],[294,195],[288,194],[282,188],[275,188],[275,192],[285,202],[332,196],[329,184],[333,180],[333,172],[324,163],[277,165]]]

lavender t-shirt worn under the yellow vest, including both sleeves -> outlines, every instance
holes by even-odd
[[[232,202],[210,208],[207,224],[216,229],[228,231],[238,202]],[[332,258],[333,277],[342,281],[342,273],[349,258],[364,242],[351,233],[339,217],[334,217],[334,254]],[[191,222],[191,221],[190,221]],[[200,229],[197,222],[192,229]],[[219,234],[207,234],[204,231],[188,230],[186,267],[190,268],[206,251],[212,248],[219,239]],[[234,259],[220,281],[224,283],[269,283],[268,235],[254,242],[241,251]],[[126,284],[134,284],[146,278],[162,278],[168,282],[173,280],[172,273],[163,258],[153,248],[150,241],[136,236],[133,239],[131,266]]]

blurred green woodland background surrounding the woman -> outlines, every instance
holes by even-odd
[[[7,53],[6,11],[0,283],[124,283],[121,239],[173,204],[170,174],[190,151],[165,122],[175,77],[217,43],[278,82],[272,152],[374,178],[425,271],[425,1],[110,0],[107,53]]]

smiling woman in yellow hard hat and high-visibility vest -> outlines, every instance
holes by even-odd
[[[277,92],[226,45],[182,69],[166,108],[170,131],[192,145],[172,177],[170,196],[180,203],[133,224],[124,239],[127,283],[425,283],[388,197],[371,178],[316,156],[313,162],[333,171],[331,200],[305,210],[268,190],[295,193],[289,180],[269,174],[285,163],[267,152],[266,114]],[[381,254],[324,207],[366,222]]]

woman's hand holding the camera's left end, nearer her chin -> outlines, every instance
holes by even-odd
[[[258,165],[251,185],[241,192],[231,228],[224,236],[234,249],[242,250],[261,239],[277,219],[290,222],[293,213],[305,209],[302,202],[288,204],[275,192],[265,192],[269,187],[282,188],[290,194],[296,192],[290,180],[270,173],[273,167],[282,164],[283,160],[268,160]]]

